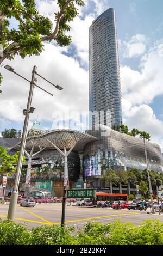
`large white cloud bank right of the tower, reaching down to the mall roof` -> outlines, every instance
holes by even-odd
[[[140,71],[121,66],[123,123],[151,134],[152,142],[163,149],[163,122],[156,118],[147,104],[163,94],[163,44],[155,44],[141,58]]]

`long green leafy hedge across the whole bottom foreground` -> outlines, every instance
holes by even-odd
[[[87,223],[83,229],[57,225],[32,229],[12,221],[0,221],[0,245],[163,245],[163,223],[143,221],[139,227],[116,221]]]

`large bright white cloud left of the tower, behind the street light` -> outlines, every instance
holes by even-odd
[[[9,62],[6,60],[4,64],[7,63]],[[89,74],[80,68],[76,60],[61,54],[60,47],[45,44],[45,51],[40,56],[24,59],[17,56],[11,60],[10,65],[28,79],[32,75],[33,66],[36,65],[40,75],[64,88],[59,91],[38,77],[37,84],[54,93],[54,96],[35,88],[32,106],[36,109],[34,114],[30,114],[30,120],[36,119],[36,115],[39,113],[39,119],[53,121],[53,112],[64,111],[67,107],[70,108],[70,111],[87,110]],[[23,121],[22,110],[27,106],[29,84],[5,69],[2,69],[2,73],[1,117],[18,122]]]

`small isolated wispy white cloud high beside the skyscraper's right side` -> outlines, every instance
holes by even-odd
[[[133,58],[141,56],[146,51],[146,44],[148,39],[143,34],[136,34],[131,37],[129,41],[123,41],[124,47],[123,57]]]

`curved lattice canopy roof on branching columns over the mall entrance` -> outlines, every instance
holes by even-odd
[[[26,150],[32,149],[33,143],[35,143],[35,150],[42,148],[52,149],[55,144],[59,149],[83,151],[84,146],[92,141],[96,141],[98,138],[84,132],[69,130],[69,129],[57,129],[42,133],[41,135],[35,135],[27,137]],[[52,143],[51,143],[52,142]],[[76,144],[76,145],[75,145]],[[75,145],[75,146],[74,146]],[[16,149],[20,148],[20,142],[15,145]]]

